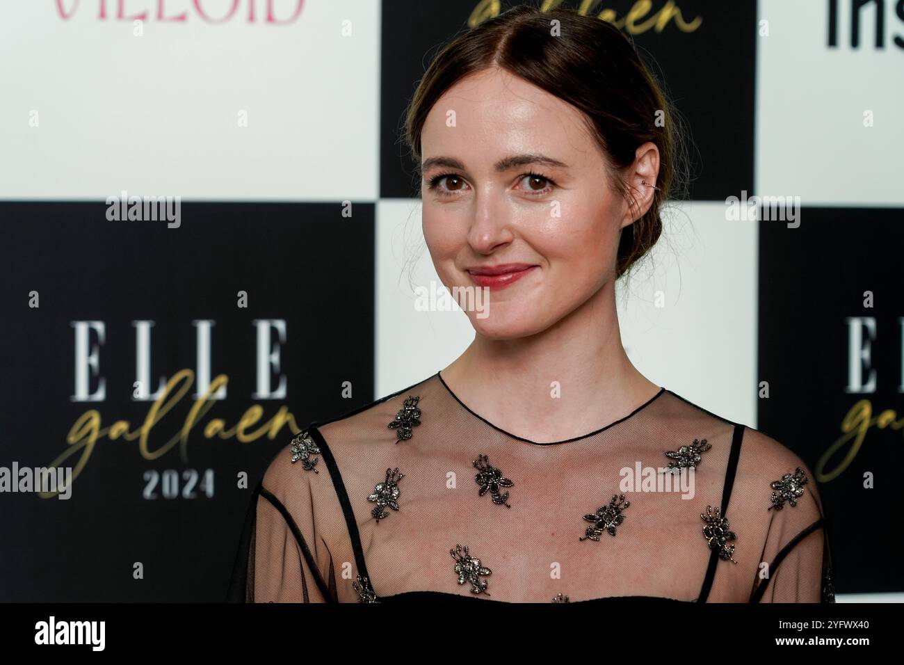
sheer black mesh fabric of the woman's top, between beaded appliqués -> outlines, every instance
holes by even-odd
[[[420,424],[397,443],[388,424],[410,395],[419,396]],[[833,600],[815,481],[766,434],[665,388],[617,422],[564,442],[527,441],[478,413],[479,405],[462,404],[437,374],[312,423],[314,469],[292,462],[287,445],[254,491],[230,600]],[[711,448],[701,453],[691,488],[679,487],[677,474],[658,472],[670,461],[666,451],[704,439]],[[494,503],[491,491],[480,495],[474,461],[481,455],[512,480],[499,489],[509,492],[508,505]],[[796,506],[769,509],[770,483],[797,467],[810,479],[804,495]],[[403,474],[399,509],[385,508],[378,520],[368,497],[396,468]],[[621,485],[623,470],[638,486]],[[657,477],[671,479],[672,490],[650,490]],[[585,516],[622,494],[629,504],[615,536],[603,530],[598,540],[586,538],[595,525]],[[728,541],[734,562],[708,546],[701,517],[708,507],[719,508],[737,536]],[[458,583],[450,553],[458,545],[489,569],[476,576],[483,592]]]

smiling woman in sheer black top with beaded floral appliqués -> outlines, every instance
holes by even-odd
[[[621,346],[615,280],[661,233],[673,121],[626,37],[570,10],[439,53],[406,128],[424,237],[488,316],[466,311],[450,366],[278,453],[233,600],[833,600],[805,463]]]

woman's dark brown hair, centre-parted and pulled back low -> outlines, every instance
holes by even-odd
[[[555,35],[553,20],[559,22]],[[621,277],[659,239],[662,204],[685,195],[679,114],[617,27],[573,9],[520,5],[457,35],[424,73],[406,113],[404,137],[419,176],[420,133],[429,110],[457,81],[491,67],[511,71],[582,111],[607,156],[610,182],[629,202],[620,171],[634,163],[641,144],[651,141],[659,149],[660,191],[646,214],[622,230],[616,266]]]

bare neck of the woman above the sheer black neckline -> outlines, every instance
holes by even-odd
[[[659,391],[622,347],[611,281],[535,335],[491,339],[477,334],[442,376],[476,413],[535,442],[592,432]]]

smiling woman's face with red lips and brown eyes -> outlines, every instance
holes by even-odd
[[[632,218],[578,109],[507,71],[481,71],[430,109],[421,154],[424,237],[440,280],[489,285],[488,316],[467,310],[479,334],[541,332],[614,279]],[[503,264],[529,268],[474,274]]]

